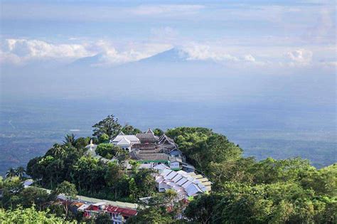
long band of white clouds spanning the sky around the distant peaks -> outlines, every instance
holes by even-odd
[[[2,64],[26,65],[36,60],[71,63],[87,57],[97,58],[94,66],[109,66],[129,63],[149,58],[170,48],[179,48],[187,60],[208,60],[226,65],[267,66],[267,67],[336,67],[336,58],[324,58],[327,50],[336,48],[296,48],[296,47],[230,47],[225,43],[196,43],[175,46],[167,43],[129,43],[119,49],[111,41],[90,41],[78,43],[49,43],[36,39],[5,39],[1,43],[0,62]]]

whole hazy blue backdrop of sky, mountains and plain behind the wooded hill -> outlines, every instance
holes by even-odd
[[[336,162],[334,1],[0,4],[0,174],[108,114]]]

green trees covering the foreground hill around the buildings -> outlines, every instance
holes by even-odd
[[[0,181],[0,223],[111,223],[104,215],[83,218],[55,203],[59,193],[67,200],[78,194],[139,203],[127,223],[337,223],[337,164],[316,169],[301,158],[256,161],[208,128],[154,129],[154,136],[172,139],[186,163],[212,183],[211,191],[181,201],[174,191],[157,191],[154,169],[140,169],[129,151],[110,144],[120,133],[141,130],[122,126],[112,115],[93,128],[93,137],[67,135],[63,144],[31,159],[26,174],[34,187],[23,188],[22,168],[9,169]],[[93,144],[97,156],[88,153]]]

